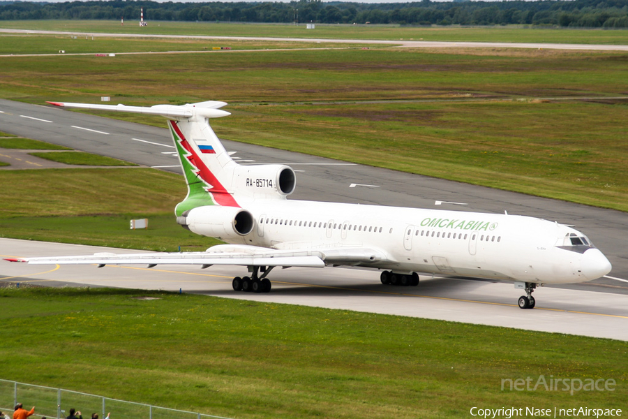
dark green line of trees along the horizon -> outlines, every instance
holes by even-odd
[[[357,23],[402,25],[505,25],[628,28],[628,0],[508,0],[351,3],[300,0],[157,3],[144,0],[0,1],[0,20],[145,20],[264,23]]]

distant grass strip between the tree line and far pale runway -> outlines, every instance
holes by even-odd
[[[33,20],[2,21],[2,28],[82,31],[110,34],[162,34],[205,36],[276,36],[281,38],[385,39],[416,41],[479,41],[523,43],[628,44],[628,30],[603,29],[536,29],[525,27],[399,27],[398,25],[316,24],[308,30],[305,24],[238,24],[208,22],[149,22],[121,26],[113,20]]]

